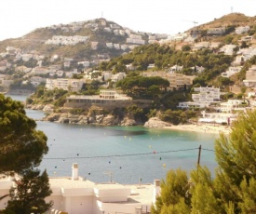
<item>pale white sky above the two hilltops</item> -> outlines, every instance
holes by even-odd
[[[101,17],[134,31],[175,34],[231,12],[256,16],[256,0],[2,0],[0,8],[0,41]]]

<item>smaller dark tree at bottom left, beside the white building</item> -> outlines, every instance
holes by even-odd
[[[52,193],[46,170],[40,175],[38,169],[27,169],[22,173],[22,178],[15,182],[16,186],[9,191],[10,200],[4,213],[44,213],[52,207],[52,202],[46,203],[44,200]]]

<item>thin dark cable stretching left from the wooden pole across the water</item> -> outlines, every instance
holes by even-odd
[[[198,148],[193,149],[183,149],[183,150],[169,150],[162,152],[151,152],[151,153],[143,153],[143,154],[112,154],[112,155],[101,155],[101,156],[74,156],[74,157],[45,157],[45,160],[53,160],[53,159],[91,159],[91,158],[106,158],[106,157],[122,157],[122,156],[139,156],[139,155],[148,155],[148,154],[167,154],[167,153],[178,153],[183,151],[190,150],[198,150]]]

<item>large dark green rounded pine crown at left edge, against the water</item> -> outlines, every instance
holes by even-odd
[[[20,101],[0,94],[0,173],[37,167],[47,154],[47,136],[36,130]]]

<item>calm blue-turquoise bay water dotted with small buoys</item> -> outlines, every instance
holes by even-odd
[[[9,96],[9,95],[7,95]],[[25,100],[26,96],[9,96]],[[78,164],[79,176],[94,182],[153,183],[169,169],[189,173],[199,163],[214,177],[214,142],[219,134],[147,127],[103,127],[40,121],[42,111],[26,109],[37,129],[47,135],[48,153],[39,168],[49,177],[70,177]]]

